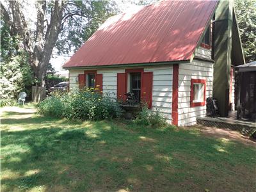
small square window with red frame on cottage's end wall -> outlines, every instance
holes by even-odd
[[[190,107],[205,106],[205,79],[191,79]]]

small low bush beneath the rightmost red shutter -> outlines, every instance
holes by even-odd
[[[143,106],[134,122],[138,125],[150,127],[163,127],[166,125],[164,116],[159,111],[148,110],[147,106]]]

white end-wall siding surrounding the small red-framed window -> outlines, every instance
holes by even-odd
[[[206,79],[206,97],[212,97],[213,63],[193,60],[179,64],[178,125],[196,124],[196,118],[206,115],[206,106],[190,108],[191,79]]]

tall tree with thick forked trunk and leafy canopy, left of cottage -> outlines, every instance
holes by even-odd
[[[116,10],[115,3],[105,0],[38,0],[34,4],[17,0],[0,5],[1,21],[10,28],[11,36],[22,40],[20,49],[27,52],[29,65],[42,86],[54,47],[60,53],[76,50]],[[29,15],[33,10],[35,15]]]

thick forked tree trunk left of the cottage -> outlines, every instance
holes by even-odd
[[[32,44],[33,35],[30,34],[28,24],[20,9],[20,2],[9,1],[9,3],[13,20],[7,17],[8,13],[4,9],[3,4],[1,4],[1,12],[4,12],[1,15],[4,16],[4,19],[6,19],[8,23],[12,24],[11,27],[13,27],[15,34],[22,37],[23,48],[28,52],[28,61],[38,82],[36,85],[44,86],[45,74],[49,61],[51,60],[52,50],[61,31],[61,21],[63,19],[63,8],[65,5],[64,1],[54,1],[46,34],[44,34],[46,1],[36,1],[37,22],[34,47]]]

